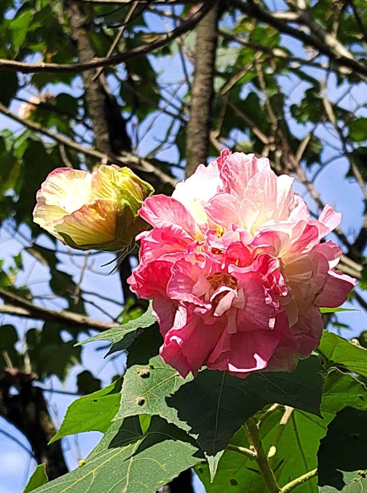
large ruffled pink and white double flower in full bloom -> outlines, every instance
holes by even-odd
[[[317,348],[319,307],[337,307],[355,281],[334,270],[341,254],[320,243],[341,216],[318,220],[269,160],[222,151],[177,185],[147,198],[131,289],[153,299],[160,354],[181,375],[203,364],[240,377],[290,371]]]

